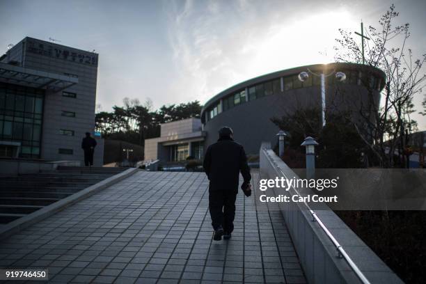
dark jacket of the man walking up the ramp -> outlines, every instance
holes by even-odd
[[[210,180],[210,191],[238,191],[239,172],[244,184],[251,180],[246,152],[231,138],[221,138],[207,148],[204,157],[204,171]]]

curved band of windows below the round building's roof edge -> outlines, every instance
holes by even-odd
[[[313,70],[315,74],[320,74],[321,71]],[[337,81],[335,76],[329,76],[326,78],[326,85],[334,86],[336,84],[353,84],[358,85],[358,71],[351,70],[343,70],[346,74],[345,81]],[[283,79],[283,89],[281,90],[281,79]],[[378,77],[372,76],[369,80],[369,84],[371,88],[380,89],[381,80]],[[226,97],[223,97],[223,111],[227,111],[228,109],[232,109],[239,104],[243,104],[244,102],[257,100],[260,97],[265,97],[268,95],[276,95],[281,93],[282,91],[294,90],[297,88],[309,88],[313,86],[321,86],[321,77],[310,75],[306,81],[300,81],[298,75],[290,75],[287,77],[280,77],[274,80],[269,80],[262,82],[260,84],[256,84],[254,86],[249,86],[244,90],[238,90],[235,93],[231,93]],[[211,120],[215,116],[217,116],[221,111],[218,111],[219,102],[216,102],[212,107],[207,109],[207,120]]]

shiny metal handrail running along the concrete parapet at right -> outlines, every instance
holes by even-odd
[[[267,159],[271,162],[271,164],[274,164],[275,167],[278,168],[279,171],[281,171],[281,175],[283,175],[285,178],[287,178],[287,175],[285,175],[285,173],[283,172],[282,168],[279,167],[276,164],[276,162],[271,159],[271,157],[269,157],[269,153],[266,151],[267,149],[262,148],[262,150],[264,150],[265,155],[266,155]],[[299,191],[297,191],[297,189],[295,189],[294,186],[291,186],[291,187],[296,192],[296,194],[298,196],[301,196],[301,194],[299,193]],[[362,283],[364,283],[364,284],[370,284],[370,281],[368,281],[367,277],[365,277],[365,275],[363,274],[363,272],[361,271],[361,269],[358,268],[358,266],[355,264],[354,260],[352,260],[352,258],[350,258],[350,256],[346,253],[346,251],[343,248],[343,246],[339,244],[339,242],[333,236],[333,234],[331,234],[331,232],[329,231],[329,229],[324,225],[324,223],[322,223],[321,219],[315,213],[315,211],[312,210],[312,208],[304,200],[303,200],[303,204],[308,208],[310,214],[313,217],[313,221],[316,221],[319,224],[319,227],[322,228],[322,230],[324,230],[324,232],[326,233],[327,237],[329,237],[329,239],[331,240],[331,242],[333,243],[333,245],[336,246],[336,250],[338,251],[338,258],[344,258],[346,260],[346,262],[349,265],[349,267],[352,268],[352,270],[355,272],[356,276],[359,278],[359,280]]]

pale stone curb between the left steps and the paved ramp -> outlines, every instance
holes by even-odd
[[[97,182],[97,184],[93,184],[90,187],[86,187],[86,189],[82,189],[81,191],[76,192],[75,194],[63,198],[55,203],[52,203],[51,205],[47,205],[46,207],[40,210],[28,214],[22,218],[16,219],[15,221],[6,224],[0,229],[0,239],[5,239],[10,235],[24,230],[24,228],[27,228],[33,225],[34,223],[38,223],[39,221],[42,221],[43,219],[46,219],[49,216],[52,216],[56,212],[64,210],[65,208],[73,205],[74,203],[86,199],[89,196],[92,196],[93,194],[96,194],[97,192],[101,191],[102,189],[110,187],[111,185],[116,184],[117,182],[120,182],[125,178],[128,178],[137,171],[139,171],[138,168],[129,168],[126,171],[123,171],[122,173],[113,175],[112,177],[109,177],[106,180]]]

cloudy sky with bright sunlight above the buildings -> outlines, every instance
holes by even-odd
[[[97,103],[123,97],[157,108],[210,97],[240,81],[333,61],[338,28],[376,25],[395,3],[411,24],[409,47],[426,52],[426,1],[0,0],[0,52],[25,36],[100,54]],[[416,97],[420,107],[423,95]],[[420,128],[425,119],[418,116]]]

